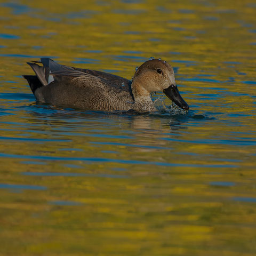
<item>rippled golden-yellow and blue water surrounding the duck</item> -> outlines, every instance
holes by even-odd
[[[255,255],[251,0],[0,5],[1,255]],[[190,109],[36,103],[21,75],[46,56],[127,79],[167,60]]]

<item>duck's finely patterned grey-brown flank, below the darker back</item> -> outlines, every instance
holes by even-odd
[[[133,95],[108,79],[79,70],[58,70],[53,81],[35,92],[38,101],[91,110],[129,110]]]

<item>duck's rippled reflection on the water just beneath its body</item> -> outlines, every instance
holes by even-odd
[[[100,126],[101,130],[140,133],[141,137],[158,138],[170,129],[178,131],[186,129],[189,117],[184,115],[173,116],[159,113],[121,113],[74,110],[69,108],[56,108],[54,106],[37,105],[31,111],[30,122],[45,123],[46,125],[59,125],[62,129],[73,127],[74,130],[88,129],[91,126]],[[128,130],[129,131],[128,131]]]

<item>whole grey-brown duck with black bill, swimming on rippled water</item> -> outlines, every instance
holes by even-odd
[[[175,83],[167,61],[150,59],[137,68],[130,81],[97,70],[60,65],[50,58],[27,64],[35,75],[23,75],[38,102],[86,110],[156,111],[151,93],[164,92],[183,110],[189,106]]]

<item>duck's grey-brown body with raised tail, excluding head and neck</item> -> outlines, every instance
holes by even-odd
[[[43,67],[29,63],[40,82],[38,86],[25,76],[38,101],[90,110],[132,109],[131,81],[101,71],[59,65],[48,58],[41,60]]]

